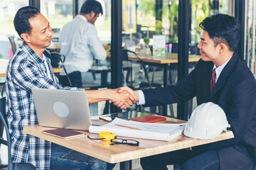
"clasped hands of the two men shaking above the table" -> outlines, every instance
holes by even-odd
[[[129,94],[127,91],[120,91],[117,93],[119,89],[113,89],[115,91],[114,95],[112,95],[112,99],[110,103],[119,103],[119,105],[115,105],[122,109],[127,109],[129,106],[132,106],[133,103],[136,103],[136,98]]]

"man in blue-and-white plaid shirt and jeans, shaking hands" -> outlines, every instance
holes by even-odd
[[[14,26],[23,39],[23,45],[11,57],[6,69],[6,116],[11,134],[12,162],[32,164],[36,169],[50,166],[71,166],[79,169],[107,169],[100,159],[51,144],[46,140],[23,133],[23,127],[38,123],[31,93],[32,88],[83,91],[62,87],[53,74],[50,54],[46,51],[53,35],[47,19],[38,8],[20,8],[14,18]],[[117,94],[117,89],[86,91],[89,103],[110,100],[122,101],[122,108],[135,102],[128,93]]]

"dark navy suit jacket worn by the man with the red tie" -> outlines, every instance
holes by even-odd
[[[144,90],[145,106],[188,101],[196,96],[198,105],[218,104],[228,118],[234,138],[193,147],[201,153],[216,149],[221,169],[256,169],[256,81],[252,72],[234,54],[210,94],[213,62],[199,60],[196,68],[176,86]]]

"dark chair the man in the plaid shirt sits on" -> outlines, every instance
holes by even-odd
[[[6,98],[0,98],[0,117],[1,117],[1,126],[6,130],[6,140],[3,137],[0,137],[0,144],[6,145],[8,149],[8,170],[36,170],[35,166],[31,164],[17,164],[11,162],[11,135],[9,134],[7,120],[6,120]],[[2,128],[4,130],[4,128]],[[60,167],[60,166],[51,166],[50,170],[79,170],[76,168]]]

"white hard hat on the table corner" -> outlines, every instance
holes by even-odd
[[[225,112],[215,103],[197,106],[186,123],[184,135],[198,139],[211,139],[230,128]]]

